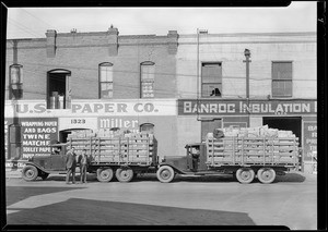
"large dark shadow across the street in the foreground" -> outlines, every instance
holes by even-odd
[[[33,211],[32,211],[33,210]],[[33,212],[33,213],[32,213]],[[255,225],[245,212],[70,198],[8,215],[9,224]],[[95,230],[94,228],[93,230]]]

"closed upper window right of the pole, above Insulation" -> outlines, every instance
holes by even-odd
[[[272,97],[292,97],[292,62],[272,62]]]

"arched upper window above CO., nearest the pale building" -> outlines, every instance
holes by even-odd
[[[155,65],[153,62],[141,63],[141,98],[154,97],[154,72]]]

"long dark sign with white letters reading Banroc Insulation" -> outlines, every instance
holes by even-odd
[[[311,114],[315,100],[178,100],[178,114]]]

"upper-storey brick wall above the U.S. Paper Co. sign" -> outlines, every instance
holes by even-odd
[[[73,99],[98,98],[98,64],[114,64],[114,98],[140,98],[140,63],[155,63],[155,98],[176,97],[174,40],[171,36],[118,36],[104,33],[57,34],[17,40],[17,63],[23,65],[23,99],[46,99],[47,73],[71,72]],[[171,35],[171,34],[168,34]],[[169,45],[169,46],[168,46]],[[7,68],[13,63],[12,40],[7,45]],[[7,69],[7,86],[9,85]],[[8,89],[5,99],[9,99]]]

